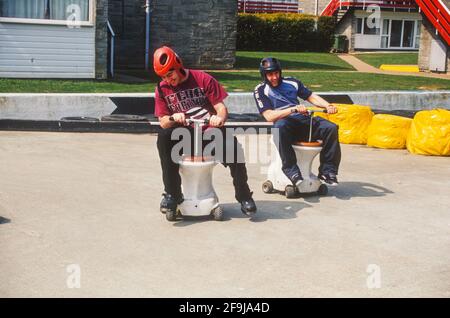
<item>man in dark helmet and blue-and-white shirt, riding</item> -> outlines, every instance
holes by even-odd
[[[280,138],[276,146],[283,163],[283,172],[298,187],[303,177],[292,144],[307,140],[310,125],[306,107],[299,105],[298,98],[326,108],[329,114],[336,113],[337,108],[311,92],[299,80],[282,77],[281,64],[276,58],[262,59],[259,71],[263,82],[255,88],[256,105],[264,118],[273,122],[278,129]],[[319,179],[330,186],[338,185],[337,174],[341,161],[338,127],[324,118],[315,117],[312,138],[323,141]]]

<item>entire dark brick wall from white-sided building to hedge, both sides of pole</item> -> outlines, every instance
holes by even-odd
[[[144,68],[145,0],[109,0],[117,33],[118,68]],[[161,45],[172,46],[187,67],[231,68],[236,49],[236,0],[152,0],[150,63]]]

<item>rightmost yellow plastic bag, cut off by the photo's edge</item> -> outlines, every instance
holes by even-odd
[[[418,155],[450,156],[450,111],[418,112],[409,130],[406,147]]]

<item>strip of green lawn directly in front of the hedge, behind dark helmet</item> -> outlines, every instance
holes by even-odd
[[[281,61],[283,69],[314,71],[354,71],[354,68],[342,61],[337,55],[330,53],[291,53],[291,52],[236,52],[235,69],[257,70],[261,59],[276,57]]]

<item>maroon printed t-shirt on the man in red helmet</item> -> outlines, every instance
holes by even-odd
[[[164,96],[155,89],[155,115],[170,116],[174,113],[186,113],[193,108],[206,109],[215,115],[213,105],[222,102],[227,96],[225,89],[211,75],[198,70],[188,70],[188,78],[176,87],[165,81],[160,83]]]

